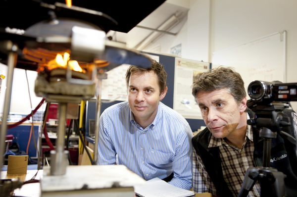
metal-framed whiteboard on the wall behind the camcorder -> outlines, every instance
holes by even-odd
[[[246,90],[253,80],[286,83],[286,31],[213,52],[212,67],[220,65],[234,67]]]

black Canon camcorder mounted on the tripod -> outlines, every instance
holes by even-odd
[[[270,103],[297,101],[297,83],[252,81],[247,93],[253,102]]]

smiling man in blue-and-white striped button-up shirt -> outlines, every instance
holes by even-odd
[[[179,113],[160,102],[167,73],[152,60],[148,69],[130,66],[128,101],[108,107],[100,116],[98,164],[122,164],[145,180],[160,178],[192,188],[193,132]]]

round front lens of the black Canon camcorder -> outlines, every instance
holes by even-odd
[[[252,100],[262,99],[266,94],[266,85],[260,81],[253,81],[248,85],[247,93]]]

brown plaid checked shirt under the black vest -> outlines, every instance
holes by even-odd
[[[247,114],[247,119],[249,119]],[[294,128],[295,128],[295,138],[297,131],[297,114],[293,113]],[[247,168],[253,166],[253,138],[252,130],[249,125],[247,125],[247,134],[244,145],[242,149],[233,147],[226,143],[224,139],[217,139],[211,137],[209,148],[219,147],[221,165],[224,180],[226,181],[230,191],[233,193],[234,197],[237,197],[244,180],[244,176],[247,172]],[[195,159],[196,158],[196,159]],[[196,193],[211,193],[213,195],[219,195],[215,186],[213,185],[210,177],[208,176],[205,167],[202,163],[200,156],[193,151],[193,190]],[[260,196],[260,186],[256,182],[252,191],[248,193],[248,197],[259,197]]]

